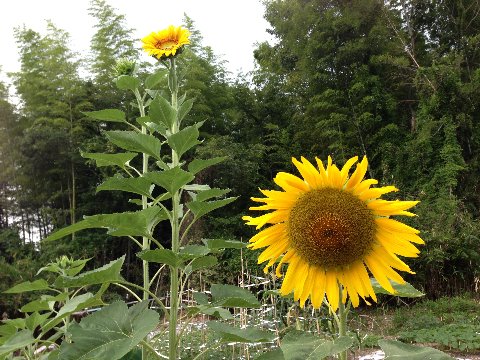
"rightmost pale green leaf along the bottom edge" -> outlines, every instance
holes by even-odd
[[[378,345],[385,353],[385,360],[452,360],[453,358],[440,350],[424,346],[404,344],[395,340],[378,340]]]

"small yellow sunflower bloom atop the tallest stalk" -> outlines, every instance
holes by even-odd
[[[166,29],[145,36],[142,39],[142,47],[148,55],[155,56],[157,59],[165,59],[175,56],[184,45],[190,44],[189,36],[190,31],[187,29],[170,25]]]

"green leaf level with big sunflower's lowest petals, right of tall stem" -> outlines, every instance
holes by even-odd
[[[214,284],[210,288],[212,304],[215,306],[259,308],[255,295],[246,289],[234,285]]]

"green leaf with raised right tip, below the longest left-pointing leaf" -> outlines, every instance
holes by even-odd
[[[125,255],[98,269],[86,271],[77,276],[59,276],[55,280],[55,286],[58,288],[82,287],[121,280],[120,271],[124,260]]]

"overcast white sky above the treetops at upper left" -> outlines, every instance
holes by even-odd
[[[134,28],[133,38],[142,38],[170,24],[180,25],[186,13],[202,33],[203,44],[227,60],[234,75],[253,69],[256,42],[270,40],[263,18],[261,0],[107,0],[118,14],[126,16],[126,26]],[[89,0],[8,0],[0,11],[0,78],[20,69],[13,36],[16,26],[25,24],[44,33],[46,21],[70,33],[71,49],[87,53],[94,34],[94,20],[88,15]],[[140,48],[140,41],[138,42]]]

